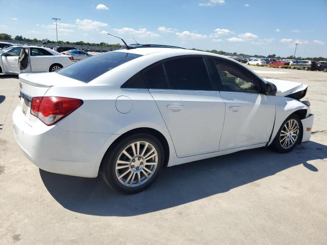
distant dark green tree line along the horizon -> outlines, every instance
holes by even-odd
[[[0,33],[0,40],[15,40],[15,41],[25,41],[25,42],[42,42],[42,40],[39,39],[30,39],[30,38],[25,38],[20,36],[15,36],[12,38],[11,35],[6,34],[6,33]],[[57,43],[56,41],[51,41],[48,40],[48,43]],[[119,43],[116,44],[109,44],[106,42],[100,42],[100,43],[90,43],[90,42],[84,42],[84,41],[78,41],[78,42],[69,42],[69,41],[58,41],[58,44],[75,44],[75,45],[89,45],[89,46],[103,46],[103,47],[121,47],[122,45]],[[196,48],[192,48],[192,50],[197,50]],[[203,51],[203,50],[198,50],[198,51]],[[230,55],[230,56],[243,56],[243,57],[256,57],[256,58],[265,58],[266,56],[263,55],[247,55],[247,54],[242,54],[242,53],[229,53],[229,52],[224,52],[224,51],[217,51],[217,50],[205,50],[205,52],[209,53],[214,53],[218,55]],[[281,57],[281,56],[276,56],[275,54],[270,54],[267,56],[268,58],[274,58],[274,59],[296,59],[296,60],[314,60],[314,61],[327,61],[327,58],[323,57],[307,57],[307,58],[302,58],[302,57],[294,57],[293,55],[288,56],[288,57]]]

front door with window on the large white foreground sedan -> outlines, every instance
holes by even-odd
[[[262,93],[261,81],[234,62],[214,59],[226,103],[220,151],[267,143],[275,119],[273,96]]]

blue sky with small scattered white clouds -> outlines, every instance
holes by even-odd
[[[327,57],[327,0],[0,0],[0,33],[63,41],[176,45]],[[5,7],[7,6],[7,7]]]

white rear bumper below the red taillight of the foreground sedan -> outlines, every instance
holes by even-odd
[[[108,145],[116,135],[67,132],[41,121],[31,127],[18,106],[13,113],[14,137],[27,158],[56,174],[95,178]],[[110,142],[111,141],[111,142]]]

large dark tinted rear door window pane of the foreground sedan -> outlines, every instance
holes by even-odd
[[[202,57],[184,57],[165,63],[170,89],[214,90]]]

